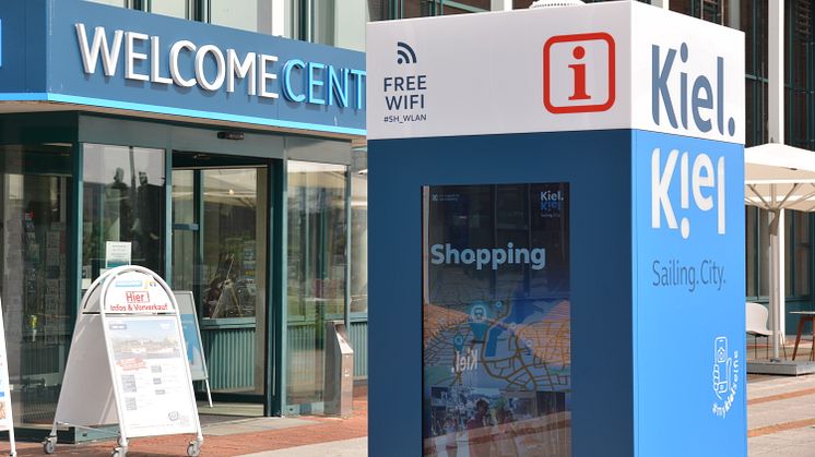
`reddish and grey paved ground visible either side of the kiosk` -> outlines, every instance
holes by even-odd
[[[202,408],[202,412],[203,412]],[[204,425],[202,456],[355,457],[367,454],[367,387],[354,390],[350,418],[236,418]],[[749,457],[815,456],[815,375],[749,375],[747,380]],[[128,456],[184,456],[192,435],[134,438]],[[0,444],[0,453],[8,445]],[[109,456],[113,441],[58,444],[56,456]],[[37,443],[19,443],[20,456],[42,456]]]

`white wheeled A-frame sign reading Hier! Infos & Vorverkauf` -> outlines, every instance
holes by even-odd
[[[203,435],[167,284],[144,267],[120,266],[91,285],[80,310],[45,453],[55,450],[58,425],[118,423],[114,456],[127,454],[131,437],[186,433],[197,434],[187,455],[199,455]]]

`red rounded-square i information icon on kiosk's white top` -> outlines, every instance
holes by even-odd
[[[557,35],[543,45],[543,105],[555,115],[614,105],[614,38],[603,32]]]

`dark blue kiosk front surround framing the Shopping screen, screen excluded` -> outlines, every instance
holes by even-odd
[[[634,455],[631,131],[373,140],[369,455],[423,446],[422,187],[568,182],[572,456]]]

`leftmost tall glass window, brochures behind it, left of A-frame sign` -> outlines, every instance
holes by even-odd
[[[49,424],[73,330],[71,145],[0,146],[2,310],[14,424]]]

